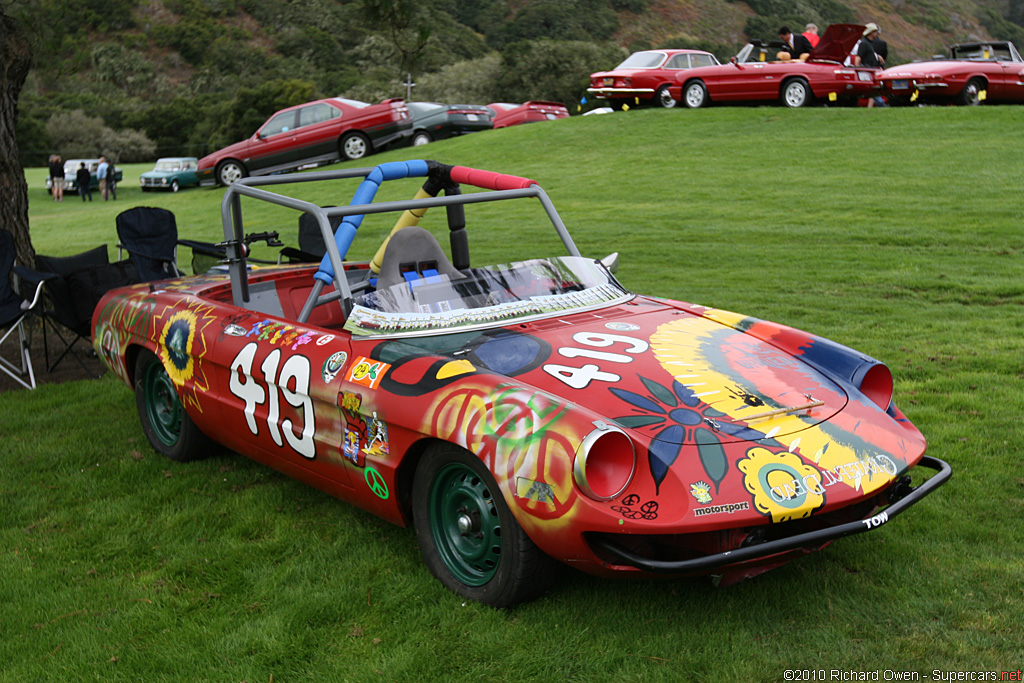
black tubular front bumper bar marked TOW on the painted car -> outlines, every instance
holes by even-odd
[[[939,460],[938,458],[925,456],[921,459],[918,467],[935,470],[936,473],[909,494],[868,519],[859,519],[857,521],[846,522],[844,524],[837,524],[836,526],[791,536],[785,539],[767,541],[762,544],[689,560],[648,559],[607,539],[595,539],[593,544],[608,553],[610,556],[618,559],[622,564],[637,567],[638,569],[643,569],[645,571],[651,571],[654,573],[706,573],[711,569],[717,569],[719,567],[732,564],[740,564],[751,560],[761,560],[772,555],[777,555],[779,553],[798,548],[821,546],[822,544],[835,539],[842,539],[843,537],[853,536],[855,533],[863,533],[864,531],[882,526],[884,523],[888,522],[893,517],[900,514],[911,505],[918,503],[921,499],[941,486],[952,475],[952,468],[949,467],[949,464],[945,461]]]

